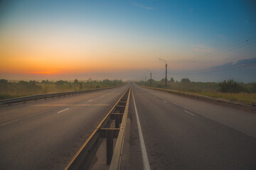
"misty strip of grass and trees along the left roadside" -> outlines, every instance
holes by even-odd
[[[108,86],[122,85],[122,80],[97,81],[89,79],[87,81],[18,81],[9,82],[6,79],[0,79],[0,100],[7,98],[16,98],[21,96],[31,96],[35,94],[50,94],[64,91],[78,91],[86,89],[96,89]]]

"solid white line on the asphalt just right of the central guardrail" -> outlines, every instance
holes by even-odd
[[[140,122],[139,122],[139,114],[138,114],[137,106],[136,106],[136,103],[135,103],[135,100],[134,100],[133,91],[132,91],[132,98],[133,98],[133,101],[134,101],[134,109],[135,109],[136,120],[137,120],[138,131],[139,131],[139,143],[140,143],[141,148],[142,148],[143,167],[144,167],[144,170],[150,170],[149,158],[146,154],[146,146],[145,146],[145,142],[144,142],[144,138],[143,138],[143,134],[142,134],[142,127],[141,127]]]

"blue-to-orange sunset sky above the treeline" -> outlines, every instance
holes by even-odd
[[[254,1],[0,1],[0,79],[250,82],[255,54]]]

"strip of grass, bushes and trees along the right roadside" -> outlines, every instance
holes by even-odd
[[[144,81],[138,81],[137,84],[145,86]],[[148,80],[146,81],[146,86],[165,89],[165,79],[161,79],[161,81],[152,80],[152,85]],[[181,81],[174,81],[174,78],[171,78],[167,81],[167,89],[186,91],[213,98],[223,98],[230,101],[256,103],[256,82],[244,84],[233,79],[220,83],[193,82],[188,78],[181,79]]]

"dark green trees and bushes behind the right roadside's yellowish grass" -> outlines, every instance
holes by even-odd
[[[150,79],[146,81],[139,81],[138,84],[152,86],[157,88],[165,88],[165,79],[161,81],[155,81],[152,79],[152,85],[150,85]],[[188,91],[188,92],[223,92],[223,93],[240,93],[245,92],[248,94],[256,93],[256,82],[253,83],[241,83],[236,82],[233,79],[228,81],[223,81],[220,83],[216,82],[193,82],[188,78],[181,79],[181,81],[174,81],[171,78],[167,81],[167,88],[178,90],[178,91]]]

